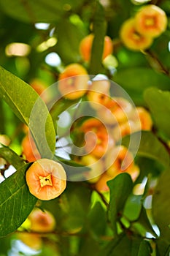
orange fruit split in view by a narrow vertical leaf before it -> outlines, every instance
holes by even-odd
[[[91,48],[93,45],[93,34],[88,34],[85,38],[80,42],[80,54],[84,61],[90,61]],[[108,36],[104,37],[104,50],[102,59],[105,59],[109,54],[112,54],[113,44],[112,39]]]

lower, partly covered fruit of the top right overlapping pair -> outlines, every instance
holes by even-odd
[[[134,18],[125,20],[120,28],[120,39],[125,47],[130,50],[146,50],[152,45],[152,37],[140,34],[136,31],[136,21]]]

